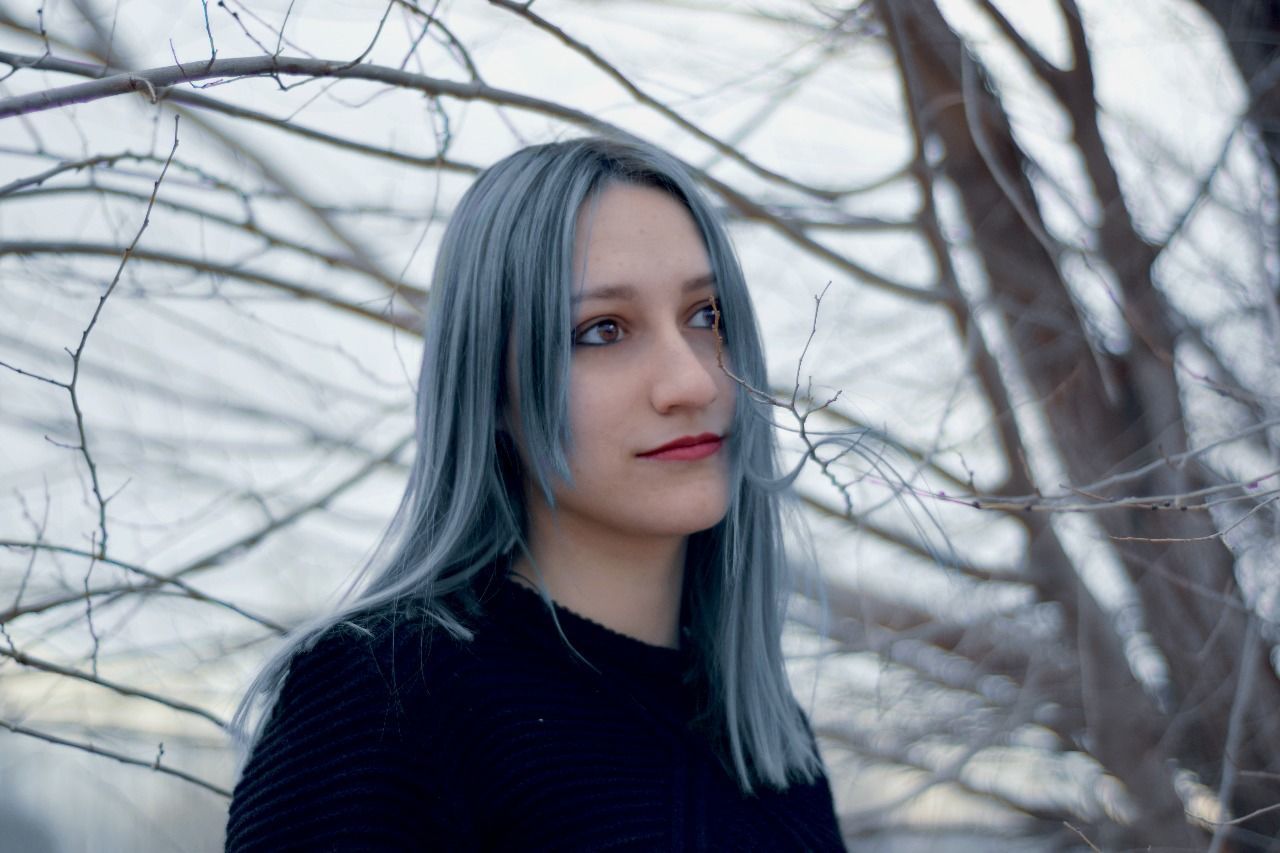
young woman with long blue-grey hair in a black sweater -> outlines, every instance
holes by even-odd
[[[250,688],[227,849],[844,849],[783,672],[759,332],[686,170],[508,156],[429,315],[404,497]]]

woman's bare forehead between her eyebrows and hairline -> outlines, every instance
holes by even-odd
[[[655,187],[609,184],[582,205],[573,243],[575,302],[581,292],[710,283],[701,232],[678,199]],[[703,280],[696,280],[703,279]],[[690,284],[691,282],[695,282]]]

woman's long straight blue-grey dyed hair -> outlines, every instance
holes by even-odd
[[[486,565],[522,548],[522,478],[550,506],[568,480],[567,403],[573,243],[579,211],[612,183],[659,188],[687,207],[716,279],[726,362],[753,388],[767,375],[742,270],[718,215],[685,167],[645,143],[580,138],[536,145],[484,170],[442,240],[430,291],[416,409],[417,453],[383,539],[339,607],[291,633],[250,685],[232,721],[247,753],[293,656],[357,612],[406,603],[468,640],[465,613]],[[502,428],[506,348],[531,469]],[[689,538],[682,622],[707,693],[710,731],[744,792],[786,788],[820,771],[783,669],[787,560],[771,409],[735,386],[730,503]],[[543,590],[544,601],[549,598]]]

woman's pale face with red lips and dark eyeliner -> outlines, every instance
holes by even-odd
[[[728,507],[728,460],[707,438],[727,438],[735,388],[716,360],[698,225],[660,190],[611,184],[584,205],[576,233],[573,488],[553,488],[561,521],[640,537],[710,528]],[[690,438],[699,443],[653,453]]]

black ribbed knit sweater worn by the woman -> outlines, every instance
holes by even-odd
[[[691,725],[682,652],[502,575],[472,642],[329,630],[292,662],[227,850],[844,850],[826,777],[744,795]]]

